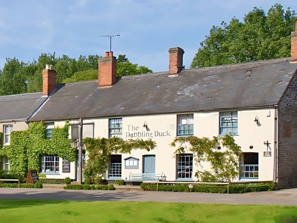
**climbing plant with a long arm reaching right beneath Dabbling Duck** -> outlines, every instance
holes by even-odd
[[[123,140],[117,137],[86,138],[84,139],[88,161],[84,167],[85,183],[100,183],[104,172],[108,168],[109,155],[117,153],[130,153],[133,149],[145,149],[150,151],[156,147],[151,139],[129,139]]]

